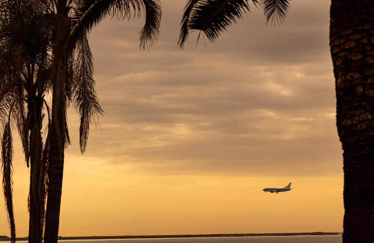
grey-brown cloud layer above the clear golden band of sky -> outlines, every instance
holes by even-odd
[[[215,44],[196,47],[193,33],[180,50],[184,2],[162,0],[161,36],[147,51],[137,42],[144,19],[92,31],[105,115],[85,156],[163,174],[341,173],[329,2],[294,1],[276,28],[252,8]]]

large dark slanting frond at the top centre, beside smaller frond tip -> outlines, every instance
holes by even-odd
[[[257,0],[252,0],[258,4]],[[187,29],[202,31],[209,41],[214,42],[227,27],[250,12],[248,0],[198,0],[189,1],[182,19],[179,44],[187,40]]]

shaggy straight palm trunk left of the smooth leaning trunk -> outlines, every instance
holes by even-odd
[[[42,161],[42,105],[43,99],[29,101],[30,121],[30,192],[29,208],[29,243],[41,243],[45,212],[45,172],[46,166]]]

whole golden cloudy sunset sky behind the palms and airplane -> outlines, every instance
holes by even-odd
[[[105,19],[89,36],[105,112],[84,155],[68,111],[60,236],[343,231],[329,1],[292,1],[281,27],[261,9],[214,43],[191,33],[185,0],[161,0],[160,37],[144,18]],[[17,236],[27,236],[29,170],[14,135]],[[292,189],[264,193],[266,187]],[[0,199],[0,204],[3,203]],[[5,207],[0,235],[9,236]]]

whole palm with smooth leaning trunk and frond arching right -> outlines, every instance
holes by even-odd
[[[80,115],[80,148],[83,153],[89,125],[102,114],[95,93],[92,54],[87,33],[105,16],[130,18],[132,12],[143,10],[145,25],[140,31],[140,46],[151,46],[159,34],[161,9],[159,0],[54,0],[53,13],[61,16],[52,48],[52,124],[50,128],[48,192],[45,221],[45,242],[56,243],[58,238],[64,169],[66,106],[70,99]],[[78,76],[70,78],[68,63],[77,58]],[[73,82],[74,85],[73,85]],[[74,87],[74,88],[70,88]]]

